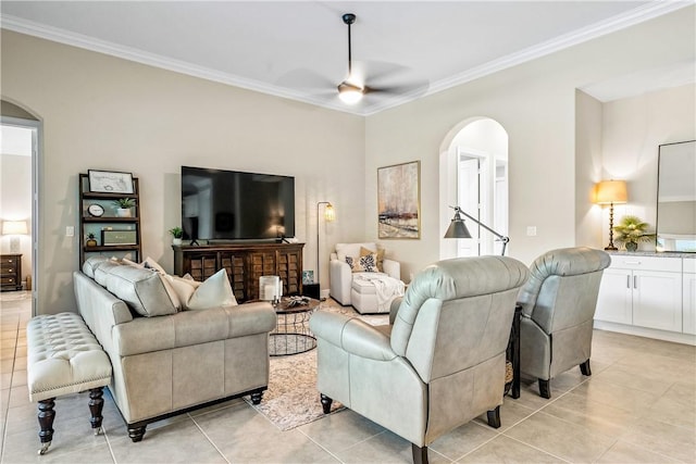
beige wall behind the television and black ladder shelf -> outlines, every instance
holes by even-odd
[[[38,313],[74,309],[78,267],[77,175],[88,168],[140,178],[144,254],[172,268],[169,228],[179,224],[182,165],[296,177],[304,267],[316,260],[315,204],[337,220],[330,246],[363,236],[364,120],[2,30],[2,98],[42,121]],[[30,59],[27,59],[30,57]],[[324,228],[322,228],[324,230]]]

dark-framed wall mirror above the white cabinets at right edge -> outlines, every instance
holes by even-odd
[[[696,253],[696,140],[660,146],[657,248]]]

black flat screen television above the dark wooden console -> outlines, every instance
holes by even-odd
[[[295,177],[182,166],[184,239],[295,237]]]

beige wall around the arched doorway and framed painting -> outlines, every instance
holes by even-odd
[[[421,160],[422,239],[384,244],[387,253],[403,261],[402,275],[438,259],[442,223],[448,221],[439,213],[448,200],[440,198],[438,186],[442,143],[462,121],[487,116],[509,135],[509,254],[530,263],[548,249],[574,246],[576,210],[592,208],[588,196],[579,198],[575,190],[575,90],[642,70],[693,61],[694,13],[693,7],[682,9],[368,117],[366,238],[376,239],[376,168]],[[592,143],[596,147],[597,140]],[[655,149],[657,145],[654,142]],[[589,171],[583,176],[589,176]],[[536,226],[537,236],[527,237],[526,226]],[[583,234],[582,241],[593,240]]]

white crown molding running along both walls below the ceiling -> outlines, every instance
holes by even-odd
[[[696,0],[675,0],[675,1],[654,1],[644,7],[634,9],[627,13],[617,15],[606,21],[593,24],[592,26],[566,34],[557,37],[552,40],[548,40],[540,45],[530,47],[520,52],[504,57],[499,60],[494,60],[485,63],[481,66],[473,67],[464,73],[456,76],[432,83],[428,90],[425,93],[418,95],[403,95],[397,98],[390,99],[384,103],[375,103],[363,106],[346,106],[340,104],[338,99],[336,101],[324,101],[308,97],[299,91],[288,90],[278,86],[261,83],[253,79],[247,79],[244,77],[235,76],[220,71],[211,70],[204,66],[194,65],[179,60],[165,58],[154,53],[144,52],[130,47],[120,46],[105,40],[99,40],[82,34],[71,33],[57,27],[47,26],[44,24],[27,21],[21,17],[1,14],[0,13],[0,27],[8,30],[13,30],[29,36],[39,37],[42,39],[96,51],[99,53],[109,54],[112,57],[121,58],[124,60],[134,61],[137,63],[146,64],[149,66],[160,67],[167,71],[173,71],[181,74],[186,74],[194,77],[199,77],[207,80],[216,81],[234,87],[244,88],[247,90],[259,91],[262,93],[271,95],[274,97],[286,98],[303,103],[309,103],[330,110],[336,110],[347,112],[351,114],[358,114],[361,116],[369,116],[376,114],[381,111],[408,103],[417,98],[422,98],[428,95],[433,95],[451,87],[469,83],[480,77],[487,76],[489,74],[502,71],[505,68],[522,64],[537,58],[554,53],[556,51],[572,47],[584,41],[601,37],[607,34],[639,24],[642,22],[671,13],[673,11],[693,5]]]

